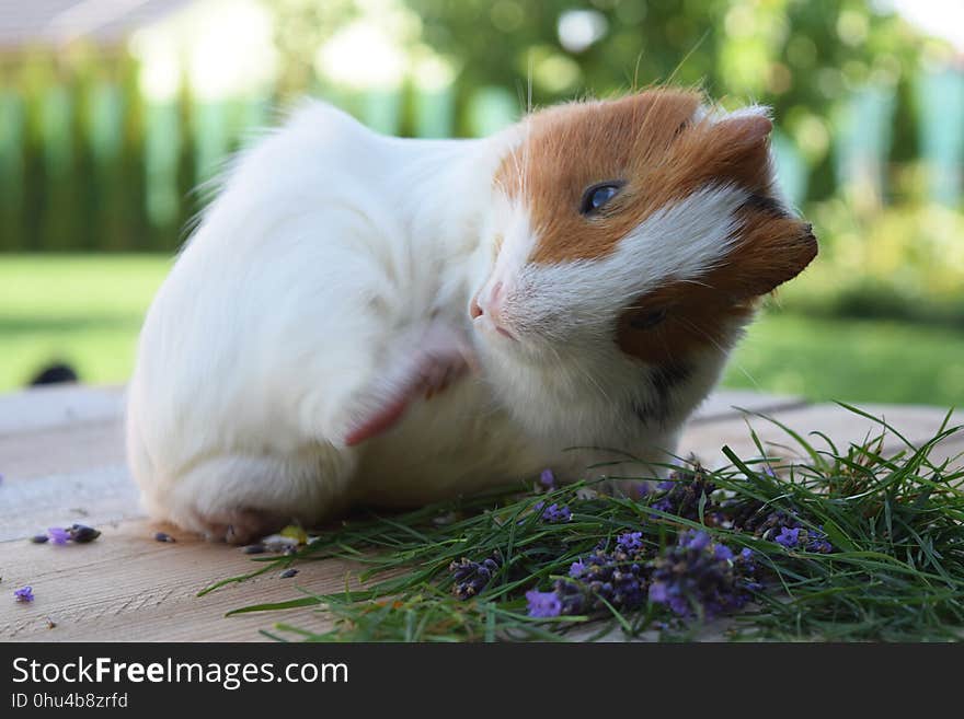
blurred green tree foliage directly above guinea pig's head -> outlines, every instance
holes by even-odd
[[[457,58],[462,97],[495,85],[521,100],[531,80],[538,105],[672,80],[724,104],[769,104],[815,173],[812,197],[834,189],[835,108],[856,88],[894,89],[918,70],[917,33],[862,0],[405,2],[424,42]],[[466,118],[458,129],[470,130]],[[899,152],[908,138],[898,127]]]

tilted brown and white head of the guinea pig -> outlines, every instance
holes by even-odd
[[[492,267],[469,313],[506,351],[654,364],[733,344],[817,253],[785,206],[765,108],[650,90],[524,120],[495,177]]]

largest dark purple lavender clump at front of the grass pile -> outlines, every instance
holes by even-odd
[[[677,616],[689,616],[697,607],[707,616],[738,610],[749,601],[750,590],[760,588],[751,558],[746,552],[734,558],[726,545],[689,530],[653,560],[649,599]]]

